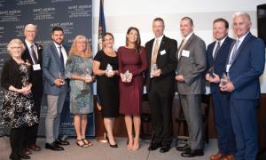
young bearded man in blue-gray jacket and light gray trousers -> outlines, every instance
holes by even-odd
[[[69,145],[69,142],[59,139],[60,115],[67,92],[67,84],[64,79],[67,54],[62,45],[63,29],[52,28],[51,39],[51,44],[43,50],[44,93],[47,95],[45,148],[64,150],[59,145]]]

